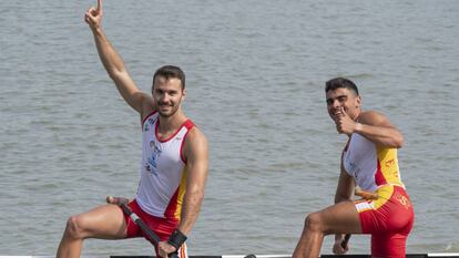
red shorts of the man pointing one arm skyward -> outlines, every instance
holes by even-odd
[[[167,240],[171,234],[178,227],[178,220],[175,218],[160,218],[143,211],[135,199],[128,204],[128,206],[160,237],[162,241]],[[132,221],[131,217],[126,214],[124,214],[124,220],[126,221],[126,238],[145,237],[145,234],[142,233],[140,227]],[[145,239],[147,238],[145,237]],[[154,249],[157,255],[156,245],[154,246]],[[178,257],[187,258],[185,244],[178,249]]]

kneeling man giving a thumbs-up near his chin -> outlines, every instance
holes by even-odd
[[[306,217],[293,257],[317,258],[325,235],[335,234],[333,250],[341,255],[348,250],[344,234],[370,234],[373,257],[405,258],[414,210],[398,167],[402,135],[384,114],[360,109],[360,95],[350,80],[328,81],[325,93],[336,130],[349,140],[335,205]],[[351,200],[353,193],[363,199]]]

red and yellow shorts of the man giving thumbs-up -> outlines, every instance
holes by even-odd
[[[406,257],[406,240],[415,221],[408,194],[400,186],[385,185],[377,199],[356,200],[364,234],[371,234],[373,257]]]

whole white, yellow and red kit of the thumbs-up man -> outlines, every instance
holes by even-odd
[[[377,147],[353,134],[343,152],[343,167],[375,198],[355,202],[364,234],[371,234],[373,257],[401,258],[415,213],[400,178],[396,148]]]

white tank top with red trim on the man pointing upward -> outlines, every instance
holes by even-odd
[[[157,126],[157,112],[142,123],[142,166],[135,198],[150,215],[180,219],[186,178],[186,161],[182,156],[182,148],[194,124],[187,120],[175,134],[161,141],[156,136]]]

